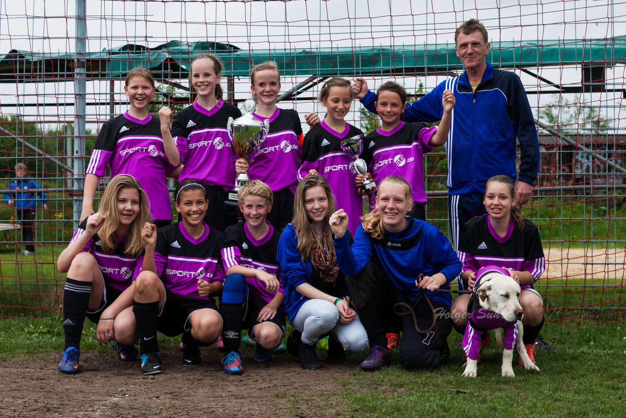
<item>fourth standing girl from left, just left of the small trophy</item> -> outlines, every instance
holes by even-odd
[[[336,196],[337,207],[349,214],[348,229],[354,234],[363,214],[363,201],[354,187],[354,158],[341,149],[341,140],[363,134],[344,120],[353,99],[349,81],[331,78],[324,83],[319,100],[327,108],[326,117],[304,137],[298,180],[308,174],[323,175]]]

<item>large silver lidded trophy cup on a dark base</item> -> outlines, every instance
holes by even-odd
[[[261,122],[252,115],[257,108],[254,100],[248,99],[244,102],[244,115],[237,119],[228,118],[226,130],[228,138],[233,144],[233,150],[237,157],[242,160],[249,161],[255,153],[255,150],[263,143],[270,129],[270,121]],[[235,189],[228,192],[228,197],[224,204],[237,206],[237,192],[242,185],[250,181],[247,173],[242,173],[235,180]]]

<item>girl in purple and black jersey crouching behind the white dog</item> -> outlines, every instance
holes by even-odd
[[[533,284],[545,271],[539,231],[516,206],[515,185],[510,177],[495,175],[487,180],[483,203],[487,214],[469,219],[459,240],[459,259],[463,263],[461,279],[465,281],[465,288],[472,290],[478,269],[493,264],[510,270],[510,276],[520,283],[523,340],[528,357],[535,363],[535,340],[544,321],[543,299],[533,289]],[[461,295],[452,305],[454,329],[461,334],[468,323],[468,301],[469,295]],[[490,339],[485,338],[481,347],[486,347]]]

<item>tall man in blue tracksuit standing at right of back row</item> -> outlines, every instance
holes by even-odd
[[[520,78],[486,62],[489,51],[485,26],[470,19],[456,29],[454,49],[465,71],[436,86],[406,107],[408,122],[441,120],[444,90],[453,90],[456,105],[446,142],[448,156],[448,217],[454,246],[465,223],[485,214],[486,181],[505,174],[516,181],[515,199],[522,205],[532,197],[539,172],[539,141],[535,120]],[[376,95],[363,78],[353,86],[356,97],[370,112]],[[516,139],[520,142],[520,174],[516,175]]]

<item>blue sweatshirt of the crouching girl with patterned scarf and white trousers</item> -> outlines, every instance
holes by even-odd
[[[350,233],[347,232],[346,241],[350,245]],[[339,256],[339,254],[337,254]],[[276,258],[280,263],[280,272],[282,274],[282,287],[285,290],[285,303],[283,309],[287,314],[287,318],[293,321],[295,315],[300,310],[300,306],[309,300],[306,296],[301,295],[295,288],[303,283],[313,283],[313,264],[310,260],[302,258],[302,254],[298,251],[298,234],[292,224],[285,226],[280,235],[278,248],[276,250]],[[459,264],[460,269],[460,264]],[[344,287],[344,295],[349,295],[347,284]]]

